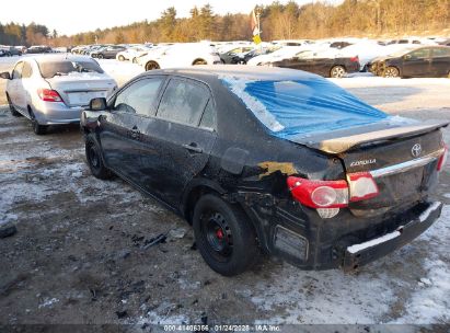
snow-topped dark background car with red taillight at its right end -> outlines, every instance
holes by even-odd
[[[272,61],[270,66],[300,69],[320,74],[325,78],[343,78],[347,73],[359,71],[358,57],[335,57],[327,56],[326,53],[315,53],[303,50],[298,53],[293,58],[280,61]]]

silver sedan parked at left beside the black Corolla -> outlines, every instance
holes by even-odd
[[[7,99],[14,116],[25,116],[34,133],[47,126],[80,122],[84,106],[94,97],[106,97],[117,84],[99,64],[83,56],[45,55],[24,58],[8,79]]]

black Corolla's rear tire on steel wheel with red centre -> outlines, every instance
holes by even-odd
[[[193,225],[197,249],[217,273],[238,275],[256,261],[256,234],[240,207],[216,195],[206,194],[195,206]]]

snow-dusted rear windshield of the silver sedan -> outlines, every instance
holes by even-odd
[[[58,60],[39,62],[39,71],[44,79],[56,76],[67,76],[71,72],[97,72],[103,73],[102,68],[94,61]]]

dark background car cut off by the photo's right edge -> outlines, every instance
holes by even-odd
[[[370,62],[369,70],[385,78],[450,78],[450,47],[426,46],[402,49],[377,58]]]

